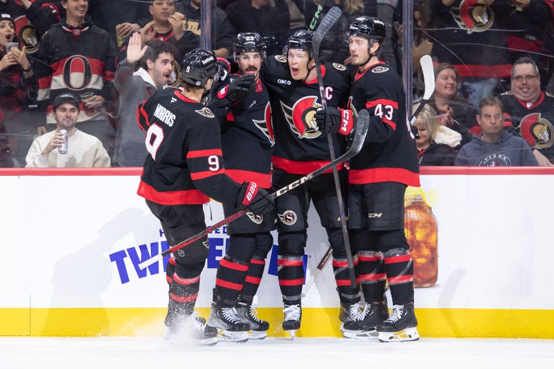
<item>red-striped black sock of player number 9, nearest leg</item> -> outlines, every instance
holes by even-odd
[[[193,314],[204,262],[176,264],[170,287],[170,306],[177,315]]]

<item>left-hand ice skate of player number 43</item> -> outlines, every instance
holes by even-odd
[[[375,326],[386,318],[388,318],[386,303],[368,303],[355,319],[343,323],[341,331],[347,339],[376,339]]]

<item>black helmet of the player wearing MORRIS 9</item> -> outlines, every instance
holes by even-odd
[[[195,48],[189,51],[181,63],[181,80],[196,87],[206,85],[210,78],[217,82],[219,66],[211,51]]]

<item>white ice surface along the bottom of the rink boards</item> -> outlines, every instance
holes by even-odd
[[[0,338],[0,368],[554,368],[554,341],[265,339],[176,346],[157,338]]]

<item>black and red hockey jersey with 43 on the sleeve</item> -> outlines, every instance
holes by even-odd
[[[406,118],[400,77],[379,62],[357,71],[350,108],[367,109],[370,123],[361,152],[350,159],[348,181],[354,184],[400,182],[419,187],[418,154]]]

